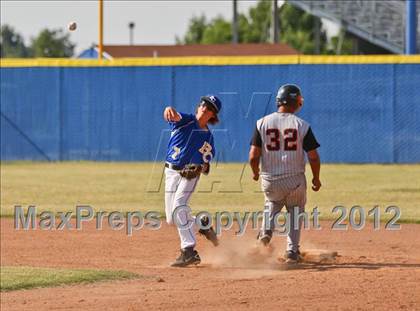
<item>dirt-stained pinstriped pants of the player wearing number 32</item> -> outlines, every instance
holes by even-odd
[[[275,229],[275,216],[286,206],[289,217],[289,230],[287,234],[287,250],[296,252],[299,249],[302,217],[299,217],[298,226],[295,227],[295,218],[298,213],[305,211],[306,204],[306,178],[304,174],[284,178],[264,178],[262,176],[261,188],[265,195],[264,213],[261,231]],[[295,209],[298,207],[298,209]],[[268,221],[268,223],[267,223]]]

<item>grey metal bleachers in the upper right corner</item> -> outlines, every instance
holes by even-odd
[[[404,53],[404,0],[288,0],[288,3],[334,21],[348,32],[392,53]],[[420,1],[416,3],[419,16]],[[417,24],[417,50],[420,50],[420,23]]]

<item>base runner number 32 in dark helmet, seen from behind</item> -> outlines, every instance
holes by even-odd
[[[290,228],[287,235],[286,262],[298,262],[302,217],[295,227],[295,217],[305,210],[306,178],[305,153],[312,170],[312,189],[321,188],[319,179],[320,146],[307,122],[298,118],[303,105],[301,90],[297,85],[280,87],[276,96],[278,111],[257,121],[251,140],[249,162],[253,179],[261,176],[261,187],[265,196],[263,223],[258,235],[263,245],[270,243],[275,227],[276,215],[286,206]],[[261,170],[260,170],[261,165]]]

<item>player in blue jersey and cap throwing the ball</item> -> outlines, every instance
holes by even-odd
[[[219,98],[214,95],[203,96],[196,113],[180,113],[173,107],[166,107],[163,117],[171,128],[171,138],[165,162],[165,213],[166,221],[175,224],[181,240],[181,255],[171,265],[185,267],[201,262],[194,250],[195,219],[191,215],[188,202],[197,186],[201,173],[208,174],[210,162],[215,156],[213,135],[208,124],[216,124],[222,108]],[[200,219],[202,227],[209,219]],[[213,228],[200,229],[214,245],[218,244]]]

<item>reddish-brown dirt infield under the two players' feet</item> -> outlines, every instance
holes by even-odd
[[[302,235],[311,263],[287,268],[277,259],[285,238],[275,237],[262,254],[249,229],[242,237],[223,232],[217,249],[199,237],[203,264],[177,269],[168,263],[178,255],[178,236],[166,225],[128,237],[124,230],[96,231],[94,224],[81,231],[16,231],[11,218],[2,218],[1,265],[122,269],[142,277],[3,292],[1,309],[420,309],[420,225],[403,224],[400,231],[321,225]]]

